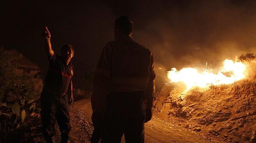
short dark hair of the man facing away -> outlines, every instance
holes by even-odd
[[[118,28],[122,34],[132,34],[133,22],[129,19],[128,16],[121,16],[116,19],[114,26],[115,28]]]

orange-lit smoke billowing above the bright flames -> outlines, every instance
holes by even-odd
[[[125,11],[112,10],[134,20],[133,38],[152,51],[161,81],[173,67],[180,70],[207,62],[217,69],[226,58],[235,60],[235,56],[256,53],[254,0],[140,1],[124,5]]]

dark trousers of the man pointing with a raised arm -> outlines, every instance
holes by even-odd
[[[42,129],[46,139],[55,135],[54,126],[57,120],[62,141],[67,141],[71,129],[67,95],[56,96],[49,92],[42,92],[41,109]]]

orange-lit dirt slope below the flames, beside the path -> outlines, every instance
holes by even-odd
[[[155,96],[154,113],[161,119],[182,122],[183,128],[209,140],[256,142],[256,82],[255,74],[250,75],[233,84],[186,93],[182,83],[166,84]]]

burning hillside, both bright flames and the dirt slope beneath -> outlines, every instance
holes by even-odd
[[[201,73],[192,68],[172,69],[168,72],[171,83],[156,94],[155,115],[178,120],[180,126],[209,140],[254,142],[255,71],[255,58],[225,60],[217,73],[210,69]]]

